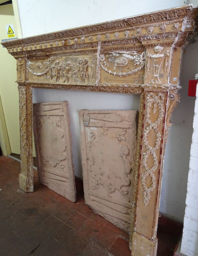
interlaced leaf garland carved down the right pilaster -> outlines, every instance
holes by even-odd
[[[161,93],[158,93],[157,96],[154,96],[153,93],[149,93],[146,97],[145,123],[147,125],[143,132],[143,145],[145,146],[146,150],[143,154],[143,159],[142,159],[142,163],[143,163],[145,172],[142,174],[142,178],[141,178],[141,184],[144,188],[144,191],[143,191],[144,200],[143,201],[144,201],[145,206],[147,206],[147,204],[149,203],[150,192],[153,191],[153,189],[156,186],[156,182],[155,182],[156,175],[154,175],[154,172],[156,171],[156,169],[158,167],[158,157],[157,157],[155,151],[156,151],[156,149],[159,148],[160,141],[161,141],[161,134],[160,134],[160,131],[157,126],[160,124],[160,122],[164,116],[163,102],[164,102],[164,96]],[[152,107],[152,105],[153,105],[153,107]],[[152,108],[153,114],[156,113],[157,108],[158,108],[158,116],[153,123],[150,120],[151,108]],[[153,148],[150,147],[149,143],[148,143],[148,134],[151,131],[151,129],[153,129],[154,132],[156,133],[156,140],[155,140],[155,144],[154,144]],[[151,157],[153,159],[153,166],[151,168],[149,168],[147,165],[147,159],[148,159],[149,155],[151,155]],[[146,185],[147,176],[150,176],[150,178],[151,178],[151,184],[150,184],[149,188]]]

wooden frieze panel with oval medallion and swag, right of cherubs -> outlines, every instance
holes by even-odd
[[[144,83],[144,67],[146,51],[117,51],[101,53],[100,82],[101,83]],[[124,79],[124,80],[123,80]]]

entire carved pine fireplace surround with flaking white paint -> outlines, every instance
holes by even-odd
[[[32,88],[140,94],[132,255],[156,255],[157,221],[170,116],[179,101],[183,48],[198,8],[163,10],[2,43],[17,60],[21,173],[33,192]]]

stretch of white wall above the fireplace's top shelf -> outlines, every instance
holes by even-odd
[[[184,1],[17,0],[23,37],[183,6]],[[198,0],[186,2],[198,5]]]

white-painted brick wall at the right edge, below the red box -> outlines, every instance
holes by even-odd
[[[181,253],[198,256],[198,86],[195,100],[193,135],[190,148],[186,208]]]

